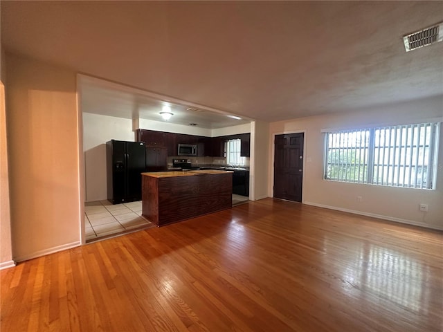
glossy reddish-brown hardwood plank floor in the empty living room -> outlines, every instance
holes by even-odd
[[[442,241],[249,202],[1,271],[1,331],[443,331]]]

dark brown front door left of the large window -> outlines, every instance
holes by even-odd
[[[302,201],[303,133],[275,136],[274,197]]]

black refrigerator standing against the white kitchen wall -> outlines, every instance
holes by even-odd
[[[106,143],[107,194],[113,204],[141,201],[141,173],[146,172],[144,142]]]

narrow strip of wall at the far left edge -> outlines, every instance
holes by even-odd
[[[10,230],[8,149],[6,133],[6,61],[0,49],[0,268],[14,266]]]

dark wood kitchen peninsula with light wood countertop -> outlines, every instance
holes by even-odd
[[[142,214],[157,226],[232,207],[233,172],[142,173]]]

